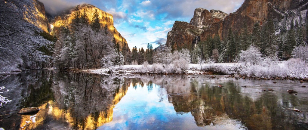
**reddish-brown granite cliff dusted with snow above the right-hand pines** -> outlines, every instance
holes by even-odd
[[[279,33],[282,27],[288,29],[290,22],[295,19],[305,22],[307,7],[307,0],[245,0],[239,9],[230,14],[197,8],[190,23],[174,23],[167,36],[167,45],[181,43],[182,46],[193,46],[197,41],[204,41],[214,35],[224,39],[229,28],[241,33],[243,25],[246,24],[251,32],[255,22],[263,25],[269,19],[276,22],[275,28]],[[190,33],[188,30],[197,33]]]

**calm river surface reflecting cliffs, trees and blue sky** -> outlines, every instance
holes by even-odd
[[[0,127],[20,129],[31,116],[4,111],[39,107],[24,129],[308,129],[308,83],[216,78],[22,72],[0,79],[12,100]]]

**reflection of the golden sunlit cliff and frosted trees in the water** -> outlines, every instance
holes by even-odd
[[[124,79],[102,75],[72,73],[55,81],[55,102],[48,109],[54,120],[66,120],[74,129],[96,129],[110,122],[114,105],[128,90]]]

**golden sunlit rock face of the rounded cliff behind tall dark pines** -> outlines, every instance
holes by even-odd
[[[67,13],[61,14],[59,16],[55,16],[55,20],[53,23],[51,23],[53,25],[53,29],[51,30],[51,34],[52,35],[58,35],[59,32],[59,28],[63,27],[63,26],[67,26],[68,28],[70,28],[70,24],[71,21],[73,19],[73,14],[75,13],[74,9],[76,7],[73,7],[70,11],[68,11]],[[128,48],[128,44],[126,39],[124,39],[124,37],[115,29],[115,27],[113,26],[113,16],[112,14],[109,14],[103,10],[100,10],[99,8],[90,5],[90,4],[82,4],[79,5],[79,10],[81,13],[83,13],[83,10],[86,10],[86,14],[89,18],[89,22],[92,21],[92,17],[93,17],[93,12],[95,11],[95,9],[99,12],[99,18],[100,18],[100,27],[102,29],[104,29],[105,27],[107,27],[107,29],[113,34],[113,37],[115,38],[115,43],[118,43],[120,46],[120,51],[122,51],[122,49],[126,49],[126,51],[129,51]]]

